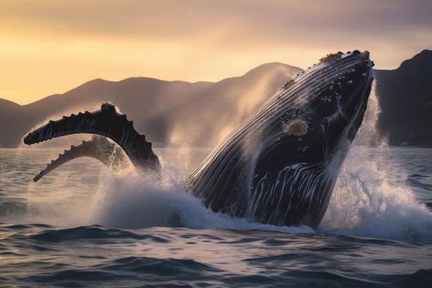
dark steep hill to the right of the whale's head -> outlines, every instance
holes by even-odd
[[[375,70],[382,113],[378,128],[390,145],[432,147],[432,51],[423,50],[396,70]]]

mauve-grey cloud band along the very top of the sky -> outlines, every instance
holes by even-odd
[[[2,19],[63,35],[189,39],[230,26],[240,39],[293,41],[307,35],[431,27],[432,3],[411,1],[23,1],[2,3]],[[286,35],[286,37],[284,37]],[[324,39],[329,41],[328,39]]]

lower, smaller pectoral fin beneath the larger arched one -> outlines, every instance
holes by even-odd
[[[59,157],[57,157],[57,159],[52,160],[47,164],[46,168],[40,171],[39,174],[33,178],[33,181],[37,182],[41,177],[47,175],[52,170],[78,157],[92,157],[108,167],[119,166],[126,160],[124,153],[119,146],[116,146],[112,142],[108,142],[106,137],[93,135],[92,140],[83,141],[78,146],[70,146],[69,150],[65,150],[63,154],[60,154]]]

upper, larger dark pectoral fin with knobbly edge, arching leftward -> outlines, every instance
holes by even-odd
[[[151,142],[146,136],[139,134],[126,115],[115,111],[112,104],[104,103],[101,109],[78,115],[63,116],[57,121],[37,128],[24,137],[25,144],[35,144],[55,137],[76,133],[92,133],[109,137],[119,144],[126,152],[135,167],[160,173],[161,165],[157,155],[153,153]]]

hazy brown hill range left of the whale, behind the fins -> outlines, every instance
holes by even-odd
[[[62,95],[20,106],[0,99],[0,144],[17,146],[32,127],[111,102],[154,146],[215,146],[302,69],[280,63],[258,66],[217,83],[128,78],[95,79]]]

